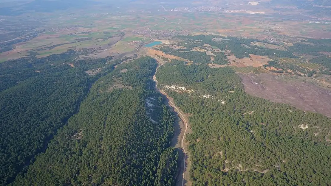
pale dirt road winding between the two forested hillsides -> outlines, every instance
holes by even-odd
[[[183,177],[182,177],[182,182],[181,182],[181,186],[184,186],[184,181],[186,181],[186,182],[188,183],[188,179],[186,178],[186,180],[185,180],[185,173],[186,173],[186,177],[188,176],[188,173],[187,173],[187,169],[186,169],[187,153],[186,153],[185,146],[184,146],[185,136],[186,136],[187,129],[188,129],[188,123],[187,123],[187,121],[186,121],[186,119],[185,119],[183,113],[177,108],[177,106],[174,104],[174,102],[171,101],[172,98],[169,97],[169,96],[167,95],[167,93],[165,93],[164,91],[158,89],[158,87],[157,87],[158,80],[156,79],[156,73],[158,72],[159,67],[162,66],[162,65],[164,64],[164,62],[163,62],[161,59],[159,59],[158,57],[156,57],[156,56],[151,56],[151,57],[153,57],[154,59],[156,59],[156,60],[159,62],[159,64],[160,64],[160,65],[156,68],[155,74],[154,74],[154,76],[153,76],[153,80],[154,80],[154,82],[155,82],[155,89],[156,89],[158,92],[162,93],[163,95],[165,95],[165,96],[167,97],[167,100],[168,100],[169,105],[170,105],[170,106],[174,109],[174,111],[178,114],[179,118],[182,120],[182,122],[183,122],[183,124],[184,124],[184,128],[185,128],[185,130],[180,130],[180,133],[181,133],[181,134],[179,135],[179,136],[182,136],[180,146],[181,146],[181,149],[182,149],[182,151],[183,151],[183,153],[184,153],[184,154],[183,154],[183,167],[182,167],[182,168],[183,168],[183,174],[182,174]],[[180,170],[180,169],[181,169],[181,168],[179,167],[179,170]],[[177,184],[177,185],[178,185],[178,184]]]

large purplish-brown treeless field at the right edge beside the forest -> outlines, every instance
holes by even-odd
[[[286,103],[304,111],[331,117],[331,91],[318,86],[282,81],[279,76],[261,73],[238,73],[250,95],[277,103]]]

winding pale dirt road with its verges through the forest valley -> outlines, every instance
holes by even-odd
[[[159,59],[159,57],[157,57],[157,56],[151,56],[151,57],[153,57],[154,59],[156,59],[156,60],[159,62],[159,66],[156,68],[155,74],[154,74],[154,76],[153,76],[153,80],[154,80],[154,82],[156,83],[156,84],[155,84],[155,89],[156,89],[158,92],[160,92],[160,93],[162,93],[163,95],[166,96],[169,105],[173,108],[173,111],[174,111],[175,113],[177,113],[177,115],[179,116],[180,120],[183,122],[183,130],[180,130],[180,128],[177,129],[177,130],[180,130],[180,133],[178,134],[178,136],[181,137],[180,148],[181,148],[182,153],[183,153],[182,156],[180,155],[180,157],[182,157],[182,166],[183,166],[183,167],[179,166],[179,171],[180,171],[181,169],[183,169],[183,173],[182,173],[182,178],[177,177],[176,185],[177,185],[177,186],[180,186],[180,185],[181,185],[181,186],[184,186],[184,183],[189,183],[189,180],[188,180],[188,178],[189,178],[189,177],[188,177],[188,169],[186,169],[186,166],[187,166],[186,161],[188,160],[188,155],[187,155],[187,152],[186,152],[186,150],[185,150],[185,146],[184,146],[184,145],[185,145],[185,144],[184,144],[184,142],[185,142],[185,136],[186,136],[187,129],[188,129],[188,122],[186,121],[186,119],[185,119],[185,117],[184,117],[184,114],[183,114],[183,113],[177,108],[177,106],[174,104],[173,99],[172,99],[171,97],[169,97],[169,96],[167,95],[167,93],[165,93],[164,91],[162,91],[162,90],[160,90],[160,89],[157,88],[158,80],[156,79],[156,73],[158,72],[159,67],[162,66],[162,65],[164,64],[164,61],[162,61],[161,59]],[[175,128],[177,128],[177,126],[176,126]],[[175,132],[176,132],[176,131],[175,131]],[[178,180],[180,180],[180,179],[181,179],[181,183],[178,182]]]

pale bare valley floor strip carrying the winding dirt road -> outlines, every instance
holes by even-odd
[[[163,94],[166,97],[166,101],[171,108],[171,111],[176,115],[175,122],[175,132],[171,140],[171,146],[176,149],[179,153],[178,157],[178,173],[176,176],[176,186],[191,186],[192,182],[190,181],[189,171],[191,168],[191,161],[189,160],[190,152],[188,151],[188,141],[185,140],[186,134],[191,133],[192,129],[188,123],[188,115],[184,114],[179,108],[174,104],[174,100],[168,96],[167,93],[157,88],[157,79],[156,73],[158,68],[162,66],[165,62],[157,56],[149,55],[159,62],[159,66],[156,69],[156,72],[153,76],[153,80],[156,82],[156,90]],[[177,130],[177,131],[176,131]],[[181,174],[182,173],[182,174]]]

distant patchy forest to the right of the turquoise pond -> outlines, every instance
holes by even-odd
[[[268,61],[264,67],[275,67],[279,70],[269,70],[275,73],[291,73],[297,76],[312,77],[315,74],[331,74],[331,58],[326,55],[331,51],[331,41],[329,39],[302,39],[294,43],[293,46],[287,47],[286,50],[276,50],[270,48],[251,45],[252,42],[261,42],[272,44],[267,41],[257,39],[221,37],[214,35],[195,35],[195,36],[177,36],[177,44],[183,48],[171,48],[162,46],[160,50],[166,54],[179,56],[188,59],[196,64],[228,64],[227,56],[233,54],[237,58],[250,57],[250,54],[258,56],[268,56],[273,61]],[[272,44],[274,46],[280,46]],[[208,47],[211,47],[212,50]],[[208,49],[213,52],[214,56],[207,55],[203,50],[196,51],[195,48]],[[218,52],[213,51],[217,49]],[[222,52],[220,52],[222,51]],[[298,55],[299,54],[299,55]],[[318,69],[307,69],[300,64],[293,62],[281,62],[282,58],[298,59],[299,57],[310,55],[312,57],[301,60],[300,63],[315,63],[320,65]],[[282,69],[282,70],[281,70]],[[290,71],[290,72],[288,72]]]

